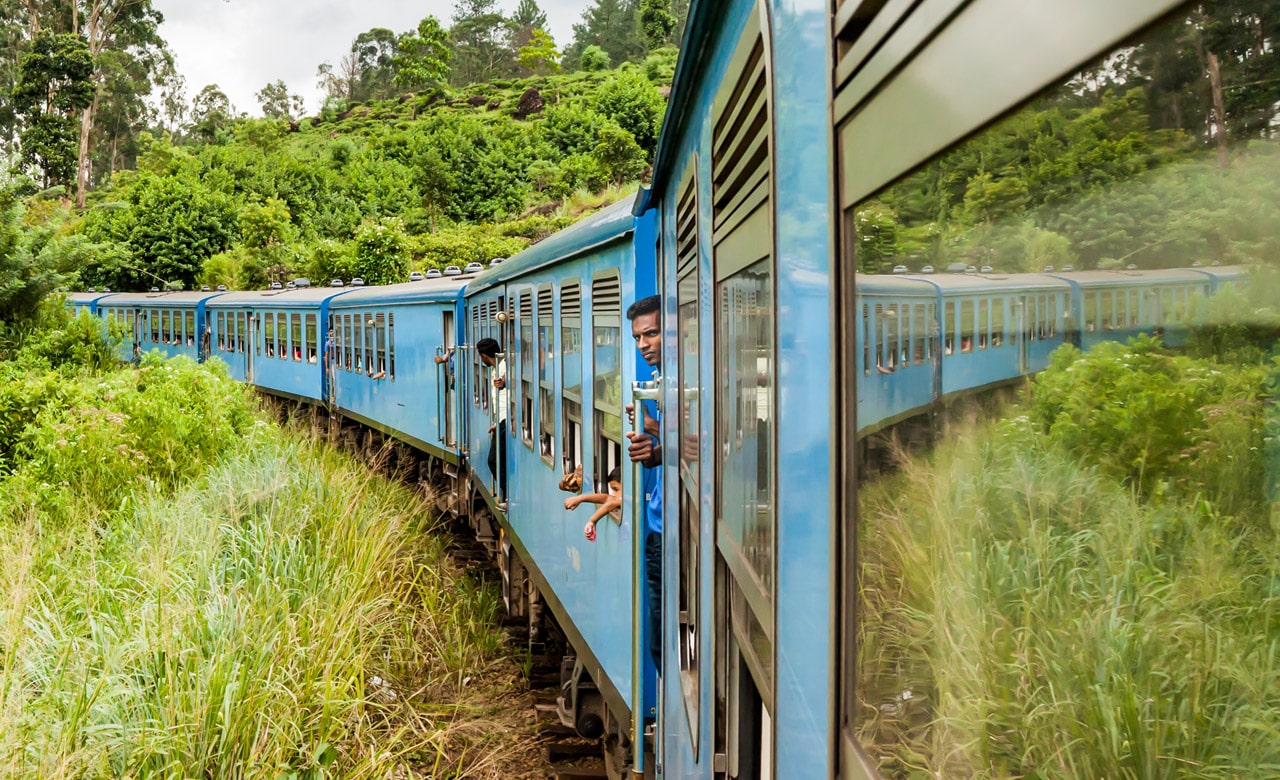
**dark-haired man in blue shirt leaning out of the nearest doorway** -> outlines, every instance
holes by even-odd
[[[640,298],[627,309],[631,336],[636,339],[640,356],[649,365],[662,368],[662,300],[658,296]],[[645,524],[645,583],[649,585],[649,656],[662,674],[662,425],[660,411],[654,414],[641,405],[644,433],[627,432],[631,444],[627,456],[644,469],[644,524]],[[635,420],[635,409],[627,405],[627,415]]]

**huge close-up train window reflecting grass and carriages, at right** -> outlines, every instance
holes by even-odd
[[[844,0],[844,8],[878,5]],[[1258,224],[1280,219],[1272,192],[1280,159],[1274,4],[1206,1],[1180,12],[1172,4],[1140,4],[1140,18],[1129,15],[1137,3],[1100,5],[1065,55],[1030,45],[1020,54],[1010,49],[1014,59],[1001,60],[1043,78],[963,120],[952,119],[954,104],[945,99],[931,114],[919,108],[931,90],[951,93],[943,88],[948,73],[963,70],[956,83],[974,76],[965,28],[1025,35],[1073,18],[1052,5],[1043,5],[1034,22],[1018,22],[1007,13],[1021,9],[1015,0],[955,4],[955,19],[922,31],[923,44],[905,61],[884,63],[886,76],[868,85],[859,109],[837,128],[836,174],[850,193],[841,206],[874,216],[879,234],[913,237],[896,246],[868,236],[859,241],[846,227],[872,220],[844,214],[840,240],[850,252],[884,252],[855,257],[850,277],[855,266],[865,273],[918,256],[936,264],[991,257],[1010,272],[1009,292],[975,298],[975,310],[943,301],[943,351],[966,350],[973,327],[979,350],[1006,342],[1020,350],[1018,361],[1001,364],[1043,371],[1024,397],[1000,400],[959,428],[938,425],[928,457],[913,457],[892,476],[869,476],[869,462],[854,465],[863,482],[856,514],[845,507],[851,524],[842,538],[847,576],[836,653],[842,658],[838,761],[849,775],[1033,776],[1050,765],[1071,776],[1115,776],[1130,766],[1135,774],[1196,775],[1206,762],[1258,766],[1266,754],[1238,749],[1253,744],[1253,734],[1234,713],[1274,713],[1275,697],[1263,687],[1196,681],[1216,679],[1222,647],[1252,648],[1275,634],[1274,599],[1263,606],[1253,585],[1243,584],[1268,581],[1271,558],[1239,555],[1257,549],[1257,528],[1270,528],[1275,508],[1265,433],[1251,425],[1266,419],[1270,401],[1258,402],[1254,380],[1220,386],[1217,394],[1206,393],[1204,382],[1210,374],[1231,383],[1261,377],[1253,371],[1276,346],[1263,314],[1276,300],[1276,282],[1258,289],[1266,282],[1254,273],[1252,292],[1216,302],[1215,313],[1229,318],[1240,339],[1228,343],[1193,319],[1204,304],[1197,295],[1211,289],[1174,269],[1240,263],[1260,254],[1260,241],[1268,247],[1262,255],[1274,255],[1275,237],[1257,232]],[[861,13],[833,8],[846,23]],[[995,23],[982,27],[980,8],[1000,9],[991,12],[998,22],[993,15]],[[1146,19],[1157,19],[1149,35],[1126,37]],[[1097,53],[1102,56],[1061,81],[1050,76]],[[925,73],[942,81],[922,79]],[[998,115],[1024,99],[1010,115]],[[951,129],[913,134],[899,163],[868,170],[874,168],[865,165],[868,149],[892,152],[865,141],[874,133],[914,133],[924,117]],[[1228,200],[1236,205],[1229,210],[1251,215],[1248,224],[1215,216]],[[1030,275],[1048,263],[1071,264],[1079,273],[1068,277],[1069,287]],[[1115,273],[1126,264],[1138,270]],[[1018,287],[1025,292],[1014,292]],[[847,321],[845,362],[856,366],[860,357],[865,366],[874,334],[859,342],[847,333],[869,313],[837,314]],[[1130,341],[1133,330],[1153,327],[1167,328],[1166,342],[1176,348]],[[1084,352],[1061,350],[1050,360],[1061,342]],[[852,375],[861,378],[856,370]],[[968,388],[987,379],[974,375]],[[959,375],[955,380],[948,392],[966,392]],[[897,389],[865,384],[860,393]],[[1171,424],[1174,407],[1187,416]],[[1001,415],[1011,420],[991,419]],[[1240,427],[1229,429],[1224,418]],[[850,461],[864,455],[855,450],[858,430],[876,421],[845,428]],[[1251,447],[1260,450],[1245,455]],[[1215,457],[1210,452],[1236,462],[1224,464],[1224,471],[1208,469],[1206,460],[1190,462]],[[1240,459],[1253,459],[1252,465]],[[1069,508],[1055,500],[1060,489],[1087,498]],[[1184,525],[1171,546],[1165,523],[1174,516]],[[1119,538],[1120,546],[1094,543]],[[1196,551],[1194,566],[1185,565],[1188,551]],[[1210,570],[1215,575],[1206,580]],[[1111,575],[1100,578],[1100,571]],[[1157,593],[1161,613],[1152,619]],[[1194,598],[1164,597],[1184,593]],[[1204,603],[1247,603],[1249,610],[1230,628],[1213,621],[1212,635],[1188,634],[1188,625],[1203,625]],[[1080,619],[1100,613],[1107,620]],[[1140,642],[1126,644],[1126,638]],[[1233,656],[1226,676],[1272,672],[1265,652],[1251,653]],[[1064,707],[1062,692],[1082,680],[1089,707],[1074,699]],[[1134,707],[1138,715],[1117,725],[1112,715]],[[1230,757],[1206,753],[1185,733],[1188,711],[1211,713],[1206,729],[1231,745]],[[1119,751],[1100,751],[1089,739],[1108,730]]]

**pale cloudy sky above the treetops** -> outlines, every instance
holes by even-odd
[[[511,13],[517,0],[499,0]],[[556,44],[572,40],[571,26],[590,0],[540,0]],[[453,0],[152,0],[164,14],[160,35],[169,42],[187,100],[218,85],[237,111],[262,114],[253,97],[278,79],[302,95],[307,111],[320,109],[316,68],[334,65],[351,41],[374,27],[397,33],[434,15],[448,27]]]

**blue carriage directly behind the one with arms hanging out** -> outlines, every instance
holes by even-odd
[[[460,298],[481,269],[475,263],[468,274],[360,287],[333,298],[323,318],[323,338],[332,333],[333,341],[329,403],[343,416],[460,465]]]

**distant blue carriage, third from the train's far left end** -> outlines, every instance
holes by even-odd
[[[210,357],[265,392],[324,402],[323,324],[347,287],[229,292],[209,302]]]

